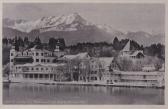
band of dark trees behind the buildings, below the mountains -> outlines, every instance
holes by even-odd
[[[80,52],[88,52],[91,56],[95,57],[111,57],[117,56],[119,51],[124,48],[129,39],[118,40],[117,37],[114,38],[113,43],[107,42],[86,42],[86,43],[77,43],[76,45],[66,46],[65,40],[63,38],[50,38],[48,43],[42,43],[39,37],[36,37],[34,41],[29,41],[28,37],[15,37],[14,39],[3,38],[3,44],[13,44],[15,49],[18,51],[20,48],[32,48],[34,45],[37,45],[38,48],[46,48],[49,50],[54,50],[56,45],[60,47],[61,50],[66,48],[67,53],[77,54]],[[145,55],[157,56],[158,58],[165,59],[165,46],[158,43],[152,44],[148,47],[143,47],[139,45],[136,41],[130,41],[131,50],[143,50]]]

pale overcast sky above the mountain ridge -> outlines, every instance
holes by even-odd
[[[164,33],[163,4],[3,4],[3,18],[35,20],[43,16],[59,16],[77,12],[95,24],[111,25],[114,29]]]

